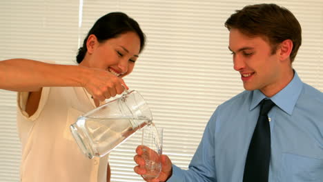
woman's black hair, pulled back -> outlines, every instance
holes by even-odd
[[[86,39],[84,39],[83,47],[79,48],[77,63],[83,61],[86,52],[88,51],[86,48],[86,41],[88,41],[90,34],[94,34],[99,43],[103,43],[108,39],[116,38],[120,34],[126,32],[135,32],[138,34],[140,39],[139,52],[141,52],[141,50],[144,49],[146,37],[144,32],[141,31],[137,21],[128,17],[128,15],[123,12],[110,12],[99,18],[88,32]]]

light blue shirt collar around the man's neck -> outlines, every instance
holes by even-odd
[[[298,97],[300,97],[300,93],[303,88],[303,83],[298,77],[297,72],[294,70],[294,77],[285,88],[280,90],[277,94],[271,97],[271,101],[273,101],[280,109],[284,110],[284,112],[288,114],[292,114],[296,101]],[[251,100],[250,110],[255,109],[257,105],[265,99],[266,96],[260,90],[254,90],[253,96]]]

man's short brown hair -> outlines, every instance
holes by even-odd
[[[302,44],[302,28],[293,13],[273,3],[256,4],[237,10],[226,20],[225,26],[228,30],[237,28],[250,37],[263,36],[269,41],[272,54],[275,54],[279,43],[291,39],[291,62]]]

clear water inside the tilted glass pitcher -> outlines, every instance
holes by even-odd
[[[104,156],[148,123],[151,121],[144,117],[139,119],[80,117],[76,124],[86,134],[87,142],[94,150],[90,153],[94,156]]]

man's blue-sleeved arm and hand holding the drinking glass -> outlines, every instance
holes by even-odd
[[[196,182],[196,181],[217,181],[215,170],[215,114],[206,125],[202,141],[195,152],[192,161],[190,162],[188,170],[182,170],[176,165],[173,165],[168,156],[161,155],[161,173],[157,179],[147,180],[148,182]],[[142,148],[139,145],[136,149],[137,155],[134,157],[135,162],[138,164],[134,170],[137,174],[146,174],[144,169],[145,161],[141,158]]]

